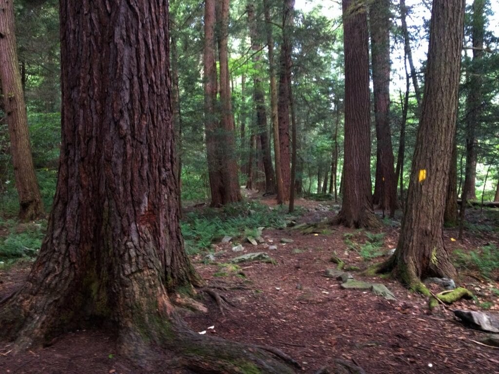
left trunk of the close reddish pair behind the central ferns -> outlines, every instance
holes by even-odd
[[[205,45],[203,52],[204,90],[205,90],[205,132],[208,158],[208,176],[210,180],[211,206],[224,204],[224,186],[222,184],[222,165],[218,145],[217,115],[217,63],[215,60],[215,1],[205,2]]]

